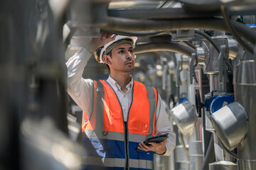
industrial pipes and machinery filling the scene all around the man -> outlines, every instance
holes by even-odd
[[[80,168],[82,112],[65,92],[65,61],[101,30],[138,37],[133,77],[164,101],[176,149],[156,155],[155,169],[256,169],[254,0],[9,0],[0,9],[0,169]],[[83,77],[108,76],[89,63]]]

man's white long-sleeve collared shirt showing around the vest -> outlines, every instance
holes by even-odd
[[[70,57],[66,65],[68,67],[68,94],[73,98],[75,103],[80,106],[82,111],[90,113],[92,110],[92,93],[94,82],[92,79],[83,79],[82,72],[87,65],[87,61],[92,54],[83,47],[79,52],[75,53],[73,57]],[[132,86],[133,78],[127,84],[127,91],[124,93],[120,86],[112,77],[108,77],[107,82],[112,86],[114,92],[122,105],[124,121],[127,121],[127,115],[129,106],[132,103]],[[158,103],[156,106],[156,125],[155,134],[168,133],[166,143],[166,153],[164,155],[169,156],[176,146],[176,135],[171,131],[171,124],[166,114],[164,105],[161,101],[160,95],[158,95]],[[90,117],[90,115],[88,115]]]

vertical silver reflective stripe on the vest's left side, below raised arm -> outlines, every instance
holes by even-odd
[[[96,91],[97,91],[97,97],[96,97],[97,108],[96,108],[95,131],[96,131],[97,135],[102,135],[105,91],[104,91],[104,87],[100,81],[97,81]]]

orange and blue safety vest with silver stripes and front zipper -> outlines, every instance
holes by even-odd
[[[83,114],[82,132],[85,132],[86,138],[90,139],[91,145],[94,147],[97,145],[95,149],[108,151],[115,149],[114,154],[104,152],[105,154],[100,156],[108,160],[102,164],[107,167],[154,169],[154,153],[135,151],[135,148],[147,137],[155,135],[156,89],[134,81],[127,124],[124,123],[122,106],[117,95],[107,81],[95,81],[94,89],[92,114],[90,118],[87,118],[86,113]],[[96,138],[99,141],[95,142]],[[106,149],[113,143],[114,148]],[[100,155],[102,152],[97,153]],[[96,160],[102,160],[91,155],[87,156],[85,164],[98,165],[99,162]],[[117,163],[112,159],[119,161]]]

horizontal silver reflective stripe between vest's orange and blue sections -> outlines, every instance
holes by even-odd
[[[107,131],[107,135],[96,134],[94,130],[85,130],[85,134],[89,138],[105,139],[105,140],[121,140],[124,139],[124,133]],[[151,136],[137,135],[129,133],[129,142],[142,142]]]

